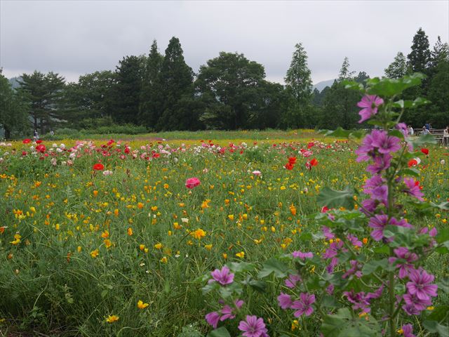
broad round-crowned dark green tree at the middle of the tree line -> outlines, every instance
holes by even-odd
[[[201,120],[208,128],[250,127],[258,118],[264,94],[279,90],[264,82],[264,77],[264,67],[243,54],[221,52],[208,60],[196,79],[199,95],[206,104]]]

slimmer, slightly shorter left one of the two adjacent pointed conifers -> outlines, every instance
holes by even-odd
[[[145,65],[145,74],[140,93],[139,119],[147,127],[154,128],[161,117],[161,105],[159,100],[158,81],[161,73],[163,56],[157,50],[157,42],[153,41],[151,50]]]

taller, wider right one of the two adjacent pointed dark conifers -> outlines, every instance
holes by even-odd
[[[163,58],[156,100],[161,102],[156,130],[189,130],[199,128],[198,116],[187,105],[194,100],[194,72],[185,60],[180,40],[172,37]]]

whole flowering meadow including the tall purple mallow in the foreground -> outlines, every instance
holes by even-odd
[[[347,82],[373,131],[0,143],[0,335],[449,336],[420,81]]]

